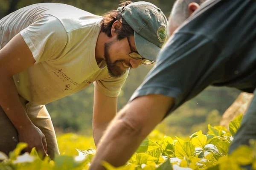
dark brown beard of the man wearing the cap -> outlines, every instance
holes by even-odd
[[[114,41],[111,42],[106,42],[105,43],[105,47],[104,47],[104,56],[105,56],[105,61],[106,61],[106,65],[108,68],[108,73],[112,76],[112,77],[121,77],[123,74],[125,74],[127,69],[122,69],[119,65],[122,65],[122,62],[125,62],[125,60],[119,59],[116,60],[115,62],[111,62],[110,59],[110,55],[109,55],[109,48],[111,47],[111,44]]]

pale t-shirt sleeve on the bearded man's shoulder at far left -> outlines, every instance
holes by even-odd
[[[67,44],[64,27],[51,15],[40,16],[20,31],[20,35],[32,52],[35,63],[57,59]]]

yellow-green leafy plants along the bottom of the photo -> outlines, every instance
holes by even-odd
[[[201,130],[188,140],[169,136],[154,130],[137,149],[131,159],[122,167],[113,167],[103,162],[108,170],[241,170],[241,166],[256,168],[256,142],[241,146],[230,155],[228,149],[241,123],[241,115],[230,122],[230,132],[221,126],[208,125],[207,134]],[[61,156],[55,160],[40,159],[35,149],[20,155],[26,144],[20,143],[9,156],[0,152],[0,170],[87,170],[95,149],[79,150],[76,147],[91,146],[93,139],[68,133],[58,137]],[[89,142],[89,143],[87,143]],[[65,146],[65,147],[64,147]],[[70,152],[72,150],[72,152]],[[75,154],[73,151],[78,152]],[[66,154],[67,153],[67,154]]]

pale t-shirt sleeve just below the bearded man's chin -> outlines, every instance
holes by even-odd
[[[121,88],[127,79],[129,71],[127,70],[125,74],[121,77],[108,77],[106,79],[96,80],[93,82],[95,88],[109,97],[117,97],[121,92]]]

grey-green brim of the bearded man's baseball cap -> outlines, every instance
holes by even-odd
[[[156,61],[157,54],[161,50],[160,47],[154,45],[148,40],[141,37],[137,32],[134,31],[135,45],[138,53],[145,59]]]

